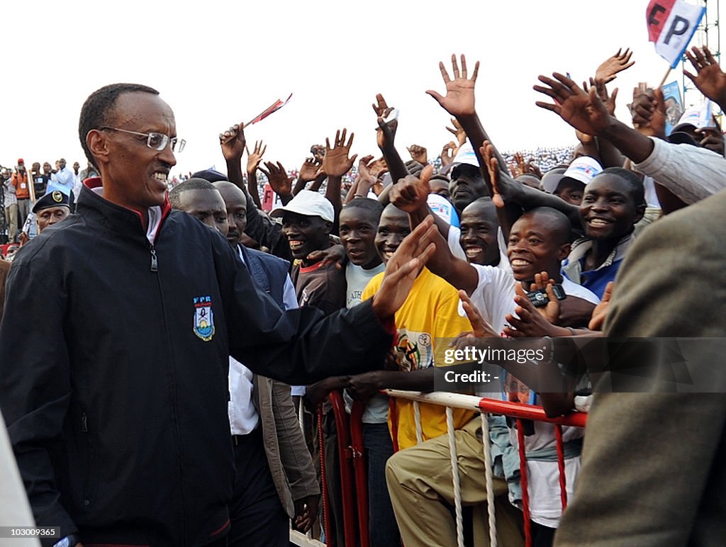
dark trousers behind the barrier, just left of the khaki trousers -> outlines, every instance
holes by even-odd
[[[388,424],[363,424],[363,448],[368,464],[368,530],[371,547],[399,547],[401,536],[386,486],[386,461],[393,456]]]

